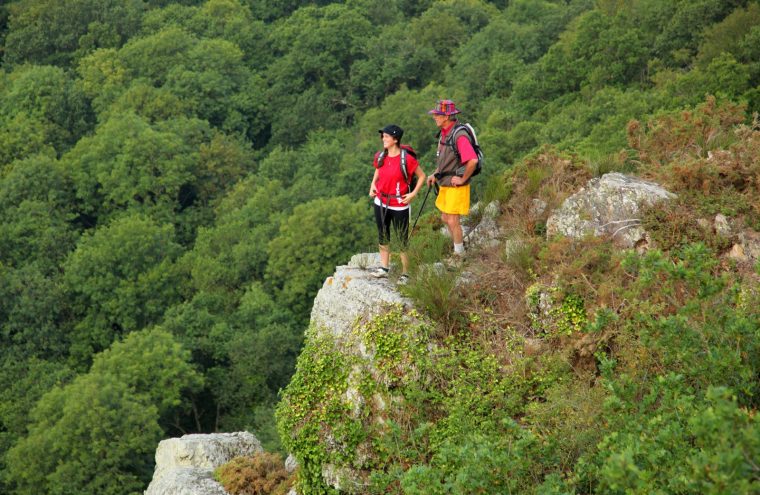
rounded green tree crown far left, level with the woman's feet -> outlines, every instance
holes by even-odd
[[[159,321],[178,298],[172,265],[179,252],[170,225],[139,214],[82,238],[63,265],[64,286],[79,320],[72,336],[79,363]]]

